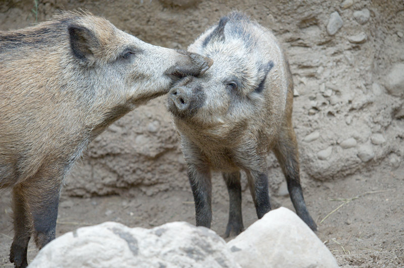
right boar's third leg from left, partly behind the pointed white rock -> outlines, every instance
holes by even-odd
[[[265,173],[247,171],[247,180],[252,200],[256,206],[258,219],[271,210],[268,193],[268,177]]]

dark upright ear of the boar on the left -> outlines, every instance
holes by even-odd
[[[98,46],[98,40],[94,33],[79,25],[69,25],[70,47],[73,55],[85,63],[95,61],[94,48]]]

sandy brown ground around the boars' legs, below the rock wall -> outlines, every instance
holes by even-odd
[[[312,216],[319,225],[317,235],[340,266],[404,266],[403,168],[394,171],[381,169],[350,176],[343,181],[310,183],[305,187],[305,195]],[[217,181],[215,184],[223,183]],[[272,204],[274,208],[285,206],[293,209],[287,195],[273,196]],[[13,232],[9,216],[10,194],[7,191],[2,192],[0,211],[0,266],[11,267],[8,254]],[[228,213],[227,193],[215,191],[213,213],[212,229],[223,235]],[[245,227],[257,220],[248,190],[243,192],[243,219]],[[192,194],[190,190],[161,192],[154,196],[139,192],[135,198],[77,198],[62,194],[57,236],[105,221],[144,228],[173,221],[194,224]],[[36,253],[30,243],[29,260]]]

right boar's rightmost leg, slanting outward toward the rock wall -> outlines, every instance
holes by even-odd
[[[313,221],[306,207],[299,177],[299,160],[297,142],[292,127],[285,128],[279,135],[274,152],[286,178],[287,189],[292,200],[296,214],[313,230],[317,225]]]

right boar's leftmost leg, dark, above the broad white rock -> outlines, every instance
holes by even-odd
[[[195,202],[196,226],[211,228],[212,180],[209,167],[188,165],[188,178]]]

